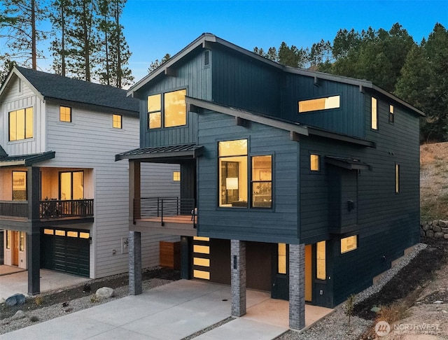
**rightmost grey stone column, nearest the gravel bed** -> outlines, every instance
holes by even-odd
[[[289,245],[289,327],[305,327],[305,245]]]

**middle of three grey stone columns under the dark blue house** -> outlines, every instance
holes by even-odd
[[[246,314],[246,242],[230,241],[232,316]]]

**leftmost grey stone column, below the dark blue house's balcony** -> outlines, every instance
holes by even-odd
[[[141,233],[129,232],[129,293],[141,294]]]

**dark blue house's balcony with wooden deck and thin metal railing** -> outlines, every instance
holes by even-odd
[[[194,199],[149,197],[134,199],[135,227],[138,232],[196,236],[197,213]]]

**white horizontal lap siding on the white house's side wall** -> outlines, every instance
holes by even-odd
[[[73,106],[72,122],[59,122],[57,103],[48,104],[47,112],[48,150],[56,154],[54,160],[41,163],[41,167],[85,169],[92,174],[92,180],[86,178],[86,184],[91,186],[85,188],[86,192],[92,190],[94,198],[94,222],[85,225],[92,236],[90,277],[128,271],[128,254],[122,251],[123,239],[129,235],[128,162],[115,162],[115,155],[138,147],[138,119],[123,115],[123,129],[113,129],[113,112],[99,113]],[[158,165],[148,165],[143,167],[141,176],[151,178],[156,173],[160,181],[165,173],[165,178],[171,179],[174,169],[177,168],[165,166],[159,171]],[[151,180],[146,182],[145,185],[151,185]],[[173,192],[179,192],[179,184],[172,180],[167,183],[172,185]],[[160,235],[146,238],[149,243],[142,244],[142,258],[148,267],[159,264],[158,241],[162,238]]]

